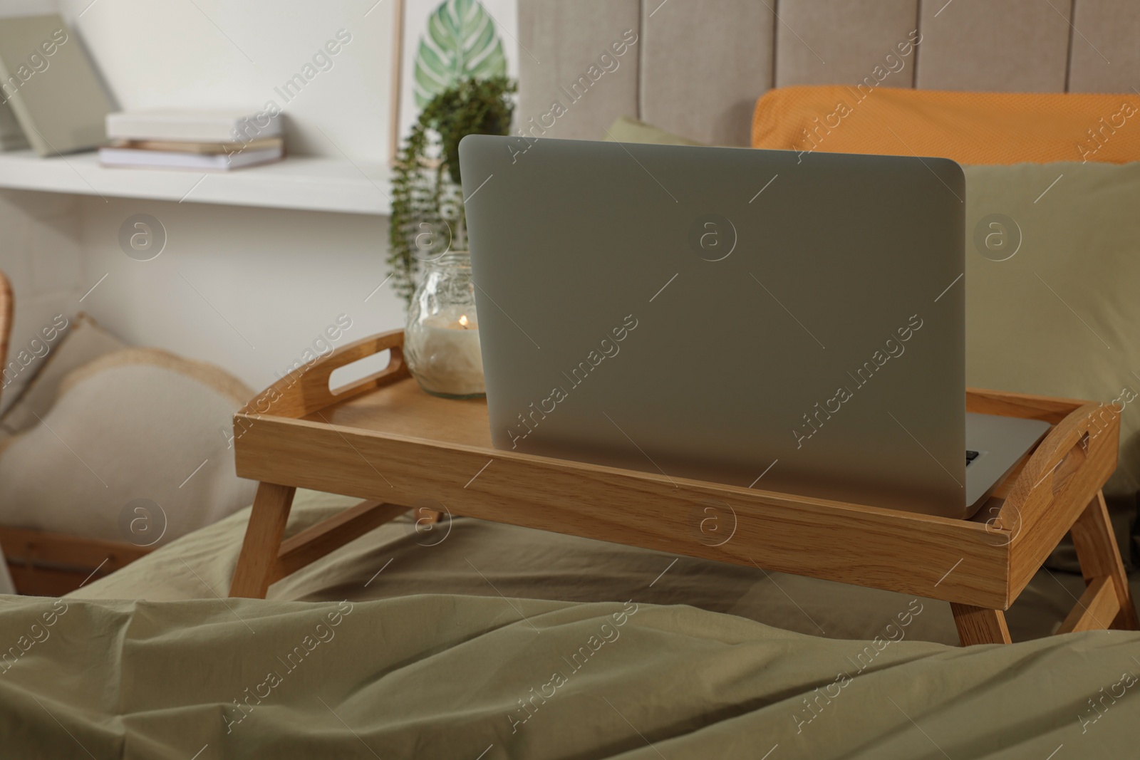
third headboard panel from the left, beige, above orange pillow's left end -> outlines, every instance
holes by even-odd
[[[887,70],[888,54],[898,71],[882,85],[913,87],[914,55],[901,58],[896,46],[918,28],[918,0],[783,0],[774,7],[776,87],[860,82],[876,66]]]

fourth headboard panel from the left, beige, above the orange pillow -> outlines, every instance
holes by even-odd
[[[922,0],[917,87],[1064,92],[1069,10],[1070,0]]]

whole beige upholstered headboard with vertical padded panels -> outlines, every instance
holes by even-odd
[[[518,124],[597,139],[628,115],[748,145],[766,90],[861,82],[915,30],[885,87],[1140,92],[1138,0],[519,0]]]

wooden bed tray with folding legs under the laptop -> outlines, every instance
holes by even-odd
[[[1009,641],[1004,616],[1073,531],[1089,582],[1062,630],[1138,628],[1100,488],[1118,415],[1085,401],[970,390],[970,411],[1053,425],[972,521],[497,450],[486,402],[423,392],[401,330],[345,345],[234,417],[237,474],[261,482],[231,596],[269,585],[429,500],[455,515],[945,599],[963,644]],[[390,350],[337,394],[333,369]],[[295,488],[367,499],[283,542]],[[709,521],[712,522],[709,522]]]

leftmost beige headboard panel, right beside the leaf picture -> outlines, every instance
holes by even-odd
[[[643,41],[638,0],[520,0],[519,1],[519,111],[515,129],[528,134],[563,139],[597,140],[603,128],[618,116],[637,116],[637,68]],[[632,31],[633,44],[621,57],[610,46]],[[591,82],[587,72],[609,54],[617,63],[612,72]],[[613,67],[613,63],[606,63]],[[601,71],[598,66],[595,71]],[[572,90],[587,77],[586,85]],[[547,117],[554,125],[543,134],[531,132],[559,103],[565,114]]]

